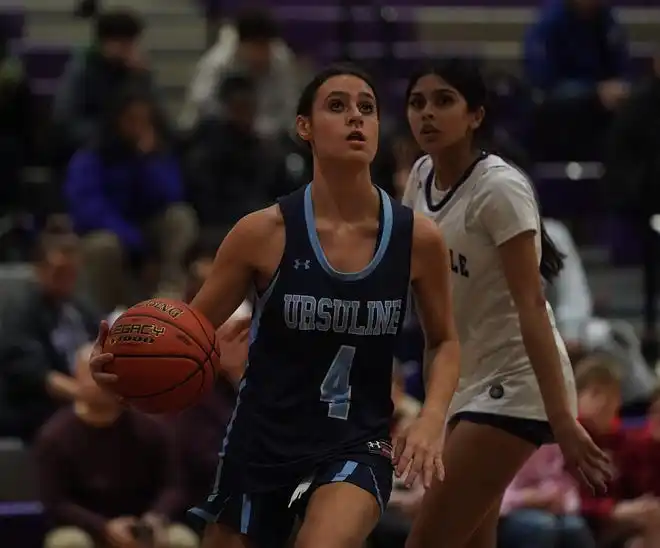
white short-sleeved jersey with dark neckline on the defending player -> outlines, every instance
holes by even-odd
[[[514,236],[532,230],[540,264],[541,221],[531,183],[493,154],[483,154],[449,191],[438,190],[432,172],[428,156],[415,163],[403,203],[435,221],[450,252],[462,356],[450,414],[476,411],[547,420],[497,250]],[[549,305],[548,313],[576,412],[571,364]]]

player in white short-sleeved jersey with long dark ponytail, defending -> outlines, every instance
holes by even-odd
[[[478,67],[429,67],[411,78],[406,97],[427,155],[403,202],[444,234],[462,348],[446,479],[426,492],[406,546],[491,548],[502,494],[540,445],[559,443],[567,466],[594,489],[605,488],[611,471],[575,418],[571,365],[544,296],[542,278],[559,272],[562,255],[527,177],[479,147],[487,92]]]

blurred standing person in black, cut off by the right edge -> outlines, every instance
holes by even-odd
[[[653,71],[615,118],[607,154],[607,194],[612,209],[637,225],[642,240],[644,328],[647,358],[660,358],[656,327],[658,313],[658,234],[649,220],[660,213],[660,46]]]

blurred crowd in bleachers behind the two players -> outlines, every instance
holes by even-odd
[[[459,55],[481,57],[489,74],[489,146],[532,174],[553,217],[547,228],[567,259],[548,298],[576,364],[581,418],[617,466],[608,493],[594,495],[544,447],[505,496],[499,544],[660,547],[659,7],[279,0],[238,12],[207,0],[188,6],[210,40],[173,110],[143,45],[159,8],[101,4],[67,3],[67,17],[90,28],[79,50],[25,36],[38,1],[0,10],[2,546],[197,545],[184,510],[213,484],[245,344],[223,340],[231,378],[207,401],[156,420],[91,381],[98,322],[143,297],[191,298],[237,219],[308,182],[311,158],[292,126],[315,65],[352,59],[379,81],[372,175],[398,196],[419,154],[402,115],[405,76],[425,55]],[[434,21],[456,25],[443,47]],[[634,283],[622,265],[641,274]],[[595,289],[592,267],[607,273]],[[636,295],[637,308],[608,306],[619,293]],[[423,399],[423,340],[407,323],[395,429]],[[402,547],[420,501],[419,489],[397,487],[373,547]]]

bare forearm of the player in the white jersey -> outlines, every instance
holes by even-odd
[[[557,341],[543,305],[518,310],[523,344],[539,383],[543,405],[551,423],[571,417]]]

